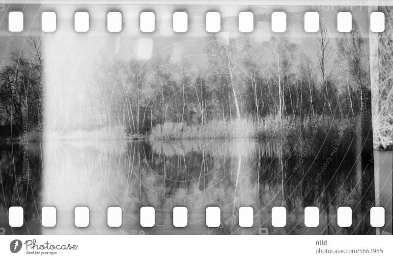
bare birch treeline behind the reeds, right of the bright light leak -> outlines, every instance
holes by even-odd
[[[306,57],[286,37],[261,42],[217,34],[204,41],[208,69],[162,56],[100,60],[85,90],[95,123],[124,125],[130,133],[166,122],[355,117],[371,101],[362,35],[354,27],[335,39],[322,24],[312,41],[317,51]]]

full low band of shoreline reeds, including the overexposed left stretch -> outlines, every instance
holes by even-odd
[[[73,141],[73,140],[201,140],[201,139],[232,139],[232,138],[300,138],[309,137],[312,132],[327,137],[338,132],[355,132],[356,119],[330,118],[318,116],[300,120],[296,117],[279,118],[266,116],[259,121],[253,118],[233,119],[232,121],[211,120],[205,124],[187,124],[185,122],[165,122],[157,124],[146,134],[127,134],[122,125],[102,127],[97,130],[75,130],[72,132],[48,132],[45,138],[41,132],[30,130],[14,142],[34,141]],[[3,140],[11,141],[11,139]]]

